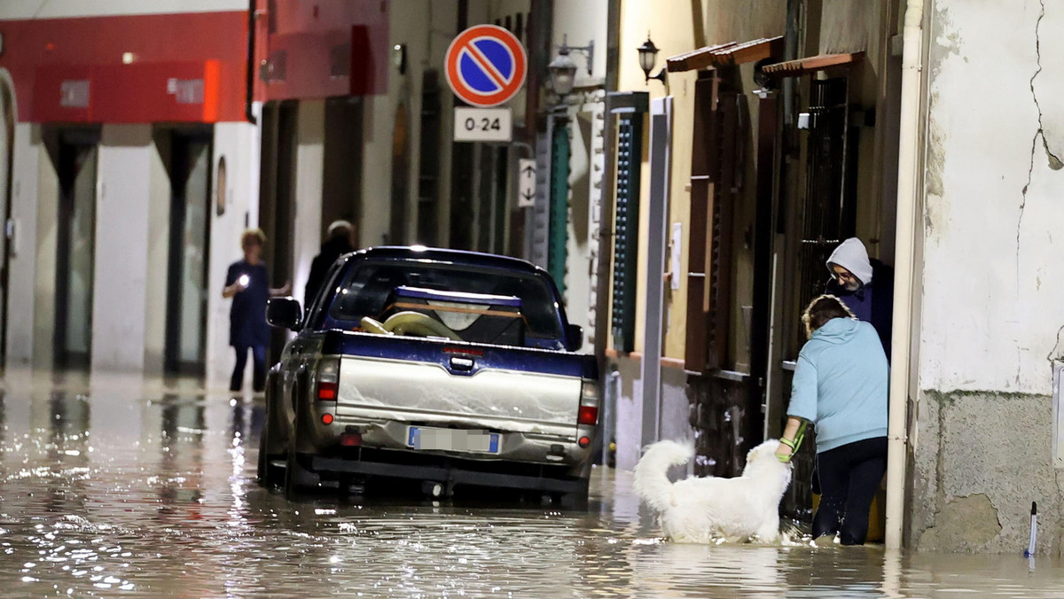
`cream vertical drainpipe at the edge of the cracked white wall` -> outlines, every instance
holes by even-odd
[[[898,214],[895,248],[894,327],[891,352],[891,405],[886,457],[886,548],[901,548],[904,526],[905,416],[912,367],[913,260],[919,205],[918,149],[924,48],[924,0],[909,0],[902,30],[901,112],[898,133]]]

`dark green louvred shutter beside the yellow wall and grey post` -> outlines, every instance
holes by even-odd
[[[635,349],[635,266],[639,249],[639,173],[643,114],[620,115],[617,132],[617,206],[613,237],[613,346]]]

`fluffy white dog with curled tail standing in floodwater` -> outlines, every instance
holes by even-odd
[[[635,492],[658,512],[662,531],[679,543],[744,542],[780,536],[780,499],[791,484],[791,464],[776,456],[769,439],[746,455],[743,476],[733,479],[688,477],[672,483],[670,466],[695,454],[691,444],[663,440],[649,446],[635,466]]]

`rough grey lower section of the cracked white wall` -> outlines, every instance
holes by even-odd
[[[1019,553],[1031,502],[1042,554],[1060,556],[1064,477],[1053,468],[1052,399],[1040,395],[925,392],[910,497],[918,551]]]

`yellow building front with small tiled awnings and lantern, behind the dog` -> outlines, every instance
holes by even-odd
[[[855,235],[893,262],[898,3],[621,6],[620,89],[648,95],[649,127],[636,300],[614,314],[630,340],[610,352],[618,464],[695,435],[703,471],[730,473],[782,421],[830,251]],[[638,63],[648,28],[664,81]]]

